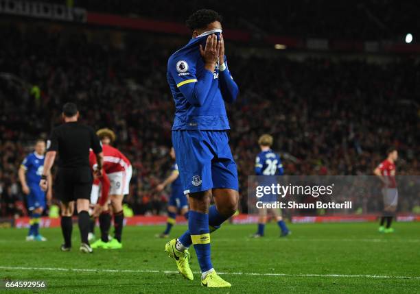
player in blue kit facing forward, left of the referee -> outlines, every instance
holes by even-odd
[[[26,241],[47,241],[39,234],[39,220],[45,209],[45,196],[51,199],[51,176],[49,176],[49,188],[47,195],[41,190],[39,181],[44,167],[45,141],[36,140],[35,151],[23,160],[19,169],[19,180],[21,181],[22,191],[27,195],[27,208],[30,211],[30,230],[26,236]]]

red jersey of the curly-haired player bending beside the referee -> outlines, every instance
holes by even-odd
[[[104,153],[104,170],[106,173],[125,171],[131,165],[130,160],[117,148],[110,145],[103,145],[102,152]],[[89,154],[89,162],[96,164],[96,156],[92,150]]]

